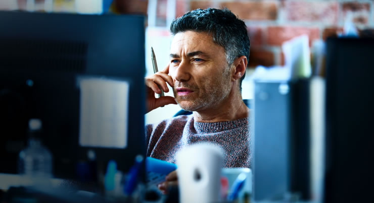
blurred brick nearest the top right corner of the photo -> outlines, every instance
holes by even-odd
[[[352,14],[352,21],[355,24],[367,25],[370,17],[370,4],[359,2],[344,2],[341,4],[342,21],[347,20],[348,13]]]

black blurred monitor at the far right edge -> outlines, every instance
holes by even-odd
[[[325,202],[372,200],[374,38],[326,41]]]

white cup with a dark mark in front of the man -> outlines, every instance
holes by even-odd
[[[201,143],[178,152],[176,164],[181,203],[220,200],[223,152],[220,147]]]

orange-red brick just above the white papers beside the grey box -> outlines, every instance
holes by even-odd
[[[280,46],[284,41],[303,34],[309,36],[309,45],[311,45],[311,41],[314,39],[319,39],[318,28],[274,26],[267,28],[266,43],[268,45]]]

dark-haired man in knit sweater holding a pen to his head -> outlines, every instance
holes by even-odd
[[[186,13],[171,23],[170,63],[146,78],[147,108],[178,104],[192,115],[147,125],[147,156],[175,162],[185,146],[209,142],[225,153],[224,167],[250,167],[249,109],[241,96],[250,42],[246,25],[229,10]],[[155,98],[160,88],[174,97]],[[168,181],[159,186],[165,189]]]

